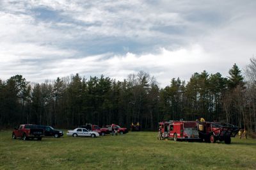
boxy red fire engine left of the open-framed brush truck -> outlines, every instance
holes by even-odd
[[[159,123],[163,139],[201,140],[199,138],[196,121],[162,121]]]

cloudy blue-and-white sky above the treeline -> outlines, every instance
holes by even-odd
[[[160,86],[243,70],[256,54],[256,1],[0,0],[0,79],[79,73]]]

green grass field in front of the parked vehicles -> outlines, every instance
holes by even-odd
[[[256,140],[158,141],[157,132],[105,137],[11,138],[0,131],[0,169],[256,169]]]

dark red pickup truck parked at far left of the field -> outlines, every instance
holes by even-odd
[[[16,139],[17,137],[20,137],[24,141],[34,138],[41,141],[42,137],[44,137],[44,129],[36,125],[20,125],[19,128],[14,128],[12,132],[12,139]]]

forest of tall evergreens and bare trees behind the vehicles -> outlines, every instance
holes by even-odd
[[[156,130],[163,120],[227,122],[256,131],[256,58],[244,72],[236,64],[228,77],[193,73],[189,81],[170,78],[160,88],[155,77],[140,71],[124,81],[86,79],[78,73],[54,81],[32,83],[22,75],[0,79],[0,128],[22,123],[72,128],[86,123],[129,127],[141,123]]]

